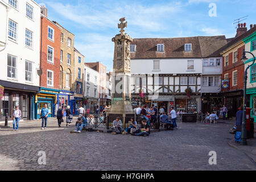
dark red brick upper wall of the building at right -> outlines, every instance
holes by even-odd
[[[245,74],[245,65],[243,64],[243,61],[241,61],[242,57],[242,51],[245,48],[245,46],[241,46],[238,48],[238,61],[236,63],[233,63],[233,52],[229,53],[229,65],[228,67],[224,67],[225,64],[225,57],[222,59],[222,78],[224,78],[224,75],[226,73],[229,73],[230,78],[230,90],[237,90],[237,89],[243,89],[243,76]],[[233,81],[233,71],[237,70],[237,86],[232,86]]]

